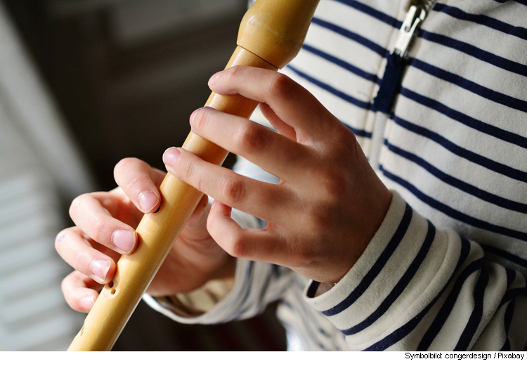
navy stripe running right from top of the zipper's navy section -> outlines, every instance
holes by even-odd
[[[507,96],[506,94],[500,93],[498,91],[488,89],[486,86],[481,86],[479,84],[476,84],[475,82],[471,82],[470,80],[467,80],[464,77],[458,76],[457,74],[453,74],[452,72],[445,71],[434,65],[430,65],[429,63],[423,62],[422,60],[411,59],[410,65],[419,70],[427,72],[427,74],[431,74],[432,76],[435,76],[438,79],[442,79],[446,82],[450,82],[451,84],[460,86],[461,88],[467,91],[471,91],[472,93],[477,94],[483,98],[492,100],[496,103],[500,103],[501,105],[505,105],[509,108],[514,108],[514,110],[527,112],[527,102],[525,100],[514,98],[512,96]],[[527,66],[524,68],[527,70]]]

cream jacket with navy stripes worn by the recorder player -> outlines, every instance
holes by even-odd
[[[289,349],[527,350],[527,1],[437,1],[398,77],[386,65],[409,6],[320,1],[283,70],[353,131],[393,190],[349,273],[315,297],[317,282],[239,259],[230,285],[150,305],[219,323],[280,300]],[[244,159],[237,171],[276,181]]]

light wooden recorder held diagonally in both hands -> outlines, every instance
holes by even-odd
[[[278,70],[299,52],[319,0],[257,0],[240,25],[238,47],[226,68],[235,65]],[[249,118],[258,105],[242,96],[212,93],[205,106]],[[227,151],[191,131],[183,148],[221,164]],[[202,193],[167,174],[160,186],[161,206],[145,214],[136,231],[138,246],[117,262],[115,278],[100,292],[68,351],[109,351],[148,285],[176,242]]]

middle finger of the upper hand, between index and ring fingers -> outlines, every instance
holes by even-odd
[[[248,119],[212,108],[190,117],[193,132],[287,180],[305,176],[312,150]]]

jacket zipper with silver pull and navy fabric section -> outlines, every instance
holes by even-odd
[[[372,111],[377,112],[377,115],[375,117],[369,162],[375,170],[379,167],[386,121],[388,121],[391,113],[393,101],[401,89],[401,80],[406,67],[408,51],[420,25],[436,2],[437,0],[412,1],[412,5],[406,12],[403,25],[401,25],[401,29],[398,31],[396,40],[391,47],[389,56],[386,58],[386,69],[384,70],[379,91],[372,104]]]

